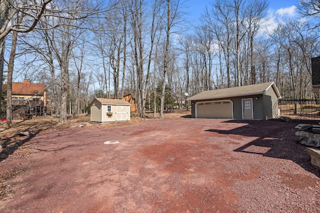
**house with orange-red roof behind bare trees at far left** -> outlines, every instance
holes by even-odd
[[[5,82],[7,84],[7,82]],[[12,114],[36,114],[44,115],[47,111],[46,85],[23,82],[12,82]]]

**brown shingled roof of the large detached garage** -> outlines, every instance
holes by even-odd
[[[203,100],[203,99],[212,99],[212,98],[226,98],[226,97],[264,94],[265,91],[270,87],[273,88],[277,97],[281,98],[281,95],[275,83],[266,82],[266,83],[259,83],[259,84],[245,85],[245,86],[206,90],[189,97],[188,100]]]

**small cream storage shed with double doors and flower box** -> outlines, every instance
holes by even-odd
[[[90,104],[91,122],[130,120],[130,103],[122,99],[94,98]]]

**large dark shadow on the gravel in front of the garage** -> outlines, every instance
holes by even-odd
[[[294,126],[297,123],[274,120],[228,120],[225,122],[245,123],[247,125],[230,130],[206,129],[205,131],[257,137],[233,151],[292,160],[305,170],[320,177],[320,170],[311,165],[311,157],[305,152],[306,146],[297,143],[298,138],[294,135],[297,130],[294,129]]]

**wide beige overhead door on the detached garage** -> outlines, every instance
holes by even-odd
[[[196,118],[233,118],[231,100],[197,102]]]

